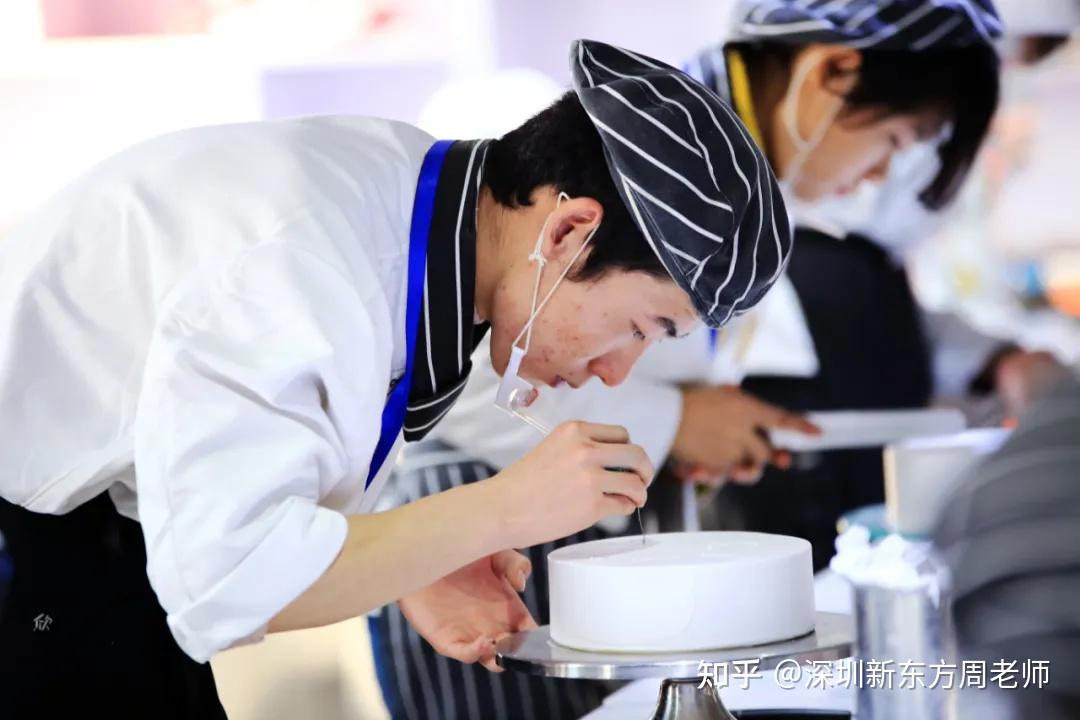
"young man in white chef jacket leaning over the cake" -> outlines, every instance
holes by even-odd
[[[626,432],[566,423],[369,512],[488,328],[508,388],[617,384],[787,261],[775,178],[718,97],[602,43],[571,68],[496,141],[359,118],[158,138],[0,245],[5,710],[222,717],[215,653],[394,599],[491,667],[532,623],[510,548],[644,504]]]

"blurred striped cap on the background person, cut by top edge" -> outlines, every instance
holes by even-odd
[[[731,41],[927,50],[991,44],[1001,19],[991,0],[739,0],[731,33]]]

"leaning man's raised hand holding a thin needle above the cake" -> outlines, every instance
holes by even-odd
[[[621,468],[621,470],[611,470]],[[566,422],[484,483],[491,484],[507,544],[566,538],[645,504],[653,468],[624,427]]]

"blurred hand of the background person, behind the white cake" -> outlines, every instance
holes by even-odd
[[[684,388],[683,419],[672,446],[675,473],[708,486],[724,478],[755,483],[767,464],[791,465],[791,454],[769,443],[768,431],[777,427],[821,433],[801,416],[733,385]]]

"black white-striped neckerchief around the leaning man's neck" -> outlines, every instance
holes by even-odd
[[[405,410],[405,439],[419,440],[461,395],[470,356],[487,331],[474,325],[476,198],[488,141],[457,141],[438,176],[423,307],[416,338],[413,385]]]

